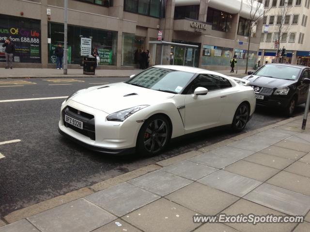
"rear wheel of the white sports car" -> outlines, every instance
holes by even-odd
[[[250,109],[247,103],[241,103],[233,116],[232,129],[233,131],[243,131],[248,123]]]

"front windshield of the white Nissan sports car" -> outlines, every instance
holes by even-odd
[[[151,68],[125,83],[163,92],[180,93],[195,73],[163,68]]]

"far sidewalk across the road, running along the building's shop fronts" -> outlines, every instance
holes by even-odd
[[[140,73],[140,69],[135,70],[96,70],[95,75],[84,75],[82,69],[68,69],[68,74],[64,75],[63,70],[57,69],[2,69],[0,72],[0,79],[4,78],[60,78],[60,77],[129,77],[132,74]],[[230,73],[230,71],[216,71],[225,75],[245,75],[245,70],[238,71],[236,73]]]

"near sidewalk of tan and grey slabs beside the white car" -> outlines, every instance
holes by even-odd
[[[0,232],[309,232],[310,124],[302,131],[301,122],[290,118],[17,210]],[[305,222],[193,223],[221,212]]]

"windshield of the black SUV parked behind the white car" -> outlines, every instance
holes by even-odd
[[[254,75],[267,76],[285,80],[295,80],[298,78],[300,69],[285,65],[264,65],[256,71]]]

